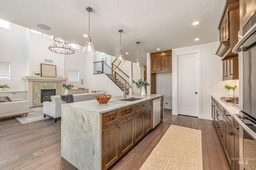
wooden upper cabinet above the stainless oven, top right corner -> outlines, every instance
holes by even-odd
[[[240,0],[240,29],[256,9],[256,0]]]

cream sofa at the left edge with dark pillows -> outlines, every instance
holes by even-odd
[[[0,118],[28,115],[28,100],[14,99],[14,102],[0,103]]]

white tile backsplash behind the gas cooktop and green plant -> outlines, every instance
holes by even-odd
[[[211,94],[229,95],[229,90],[224,88],[225,85],[237,86],[234,96],[239,96],[239,80],[211,80]]]

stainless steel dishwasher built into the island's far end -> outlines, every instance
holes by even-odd
[[[160,123],[160,113],[161,113],[161,100],[162,98],[156,98],[153,100],[153,125],[152,129],[154,129]]]

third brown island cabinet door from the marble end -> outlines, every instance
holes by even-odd
[[[142,111],[135,113],[134,142],[137,143],[143,136],[143,113]]]

